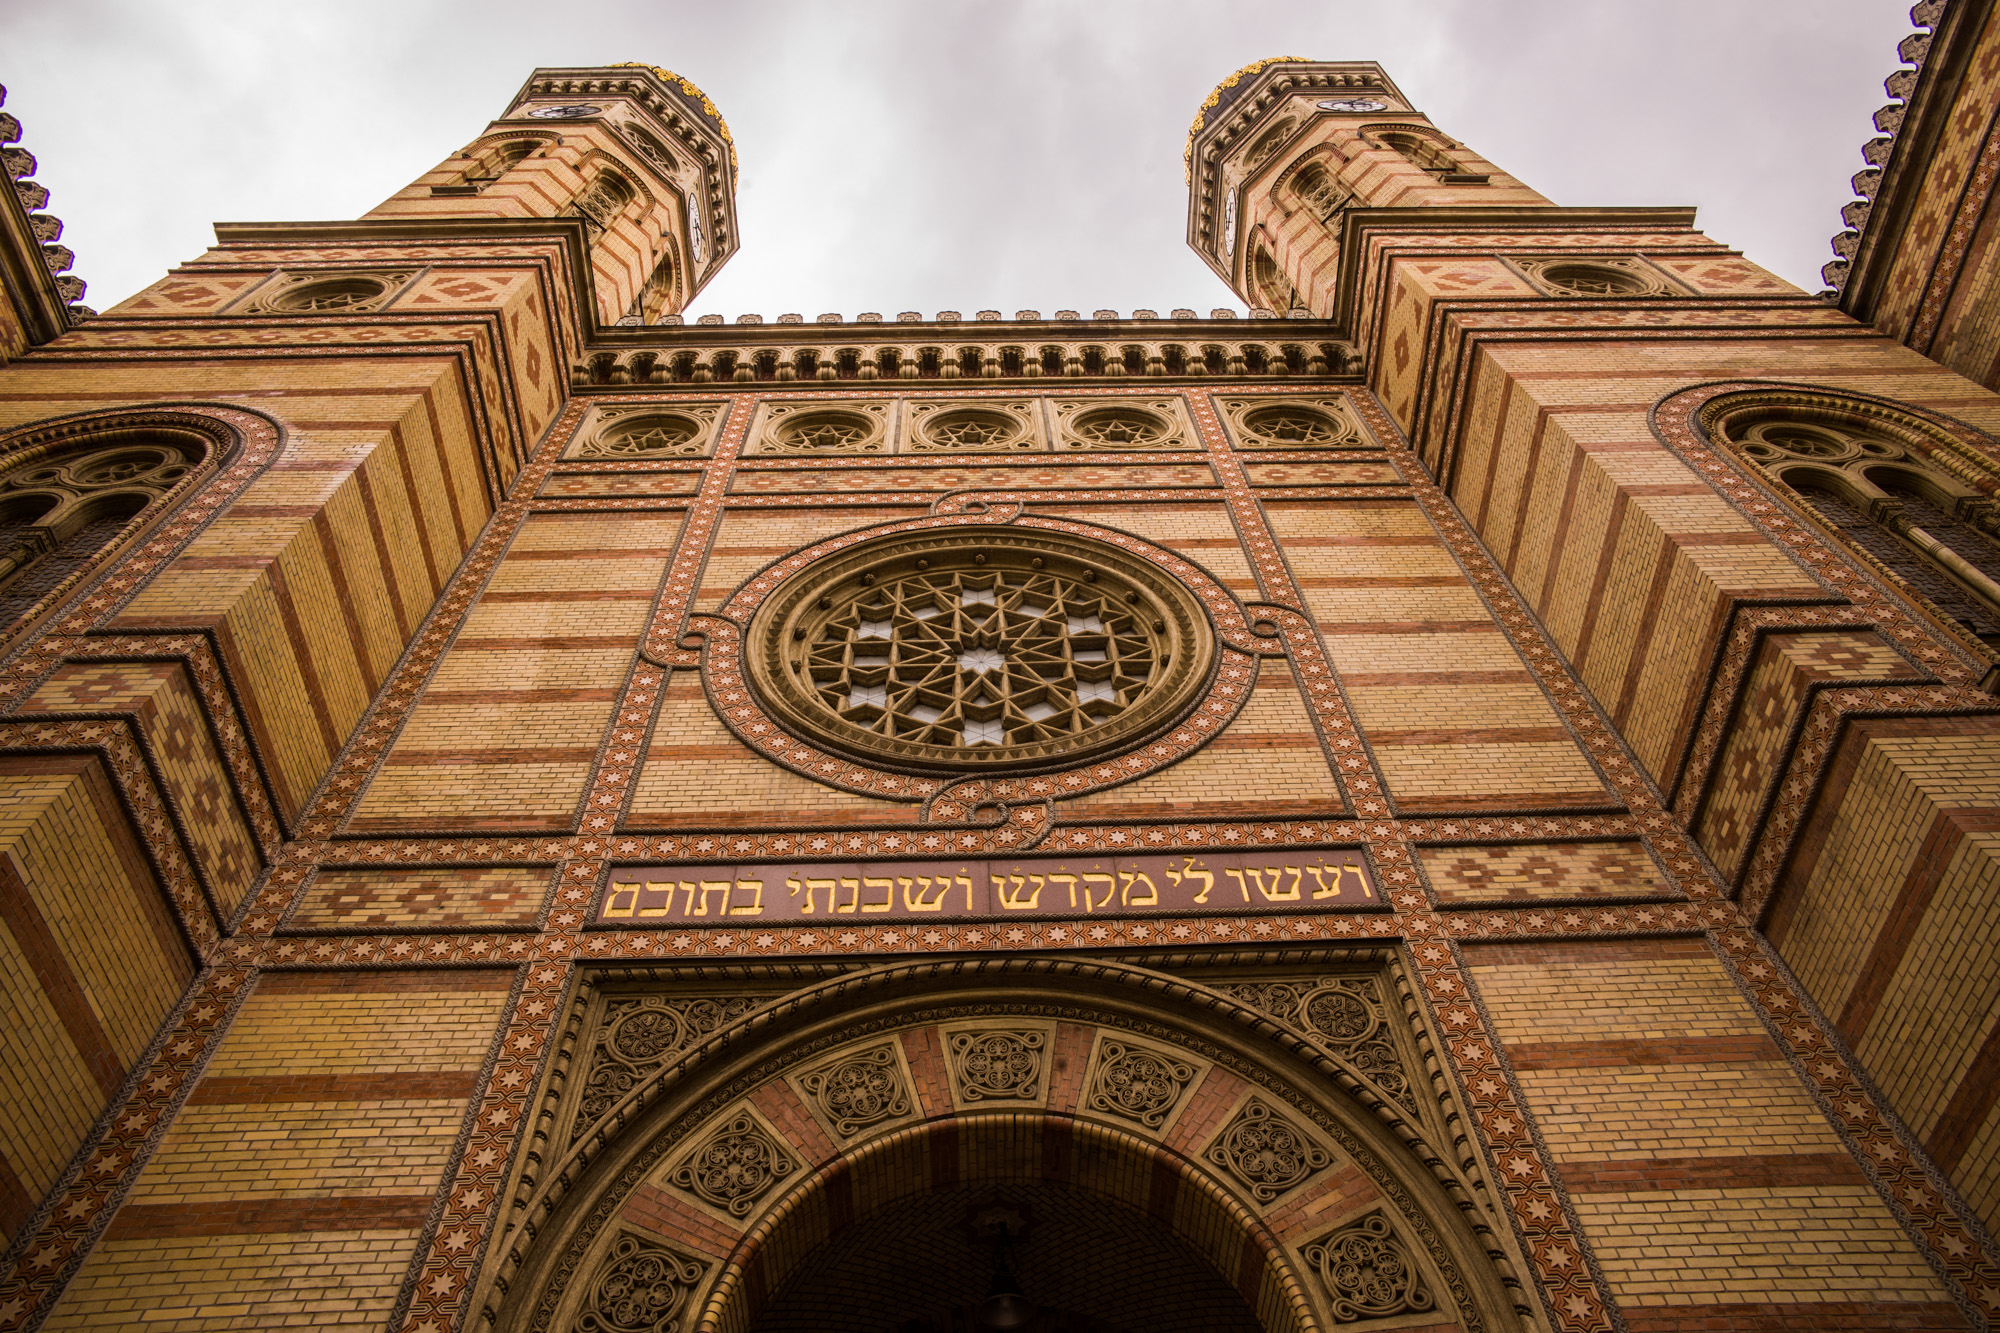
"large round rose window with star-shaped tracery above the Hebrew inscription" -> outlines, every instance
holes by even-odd
[[[828,556],[750,622],[750,679],[828,749],[918,771],[1018,771],[1130,749],[1194,705],[1214,634],[1194,594],[1092,538],[894,534]]]

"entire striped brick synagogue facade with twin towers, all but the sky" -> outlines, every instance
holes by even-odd
[[[1368,62],[1248,314],[690,318],[652,66],[102,314],[8,148],[0,1329],[1990,1327],[1990,10],[1830,294]]]

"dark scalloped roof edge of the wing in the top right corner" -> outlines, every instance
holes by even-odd
[[[1918,28],[1896,46],[1914,70],[1896,70],[1884,90],[1900,102],[1876,112],[1882,138],[1862,146],[1868,162],[1854,174],[1860,196],[1840,210],[1850,230],[1832,240],[1836,258],[1820,268],[1828,288],[1838,290],[1840,308],[1864,324],[1874,322],[1876,304],[1896,266],[1910,212],[1916,208],[1938,138],[1952,118],[1952,104],[1964,86],[1980,32],[1994,0],[1924,0],[1910,10]]]

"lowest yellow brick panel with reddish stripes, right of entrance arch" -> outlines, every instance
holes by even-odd
[[[1474,945],[1466,973],[1628,1327],[1952,1327],[1708,945]]]

